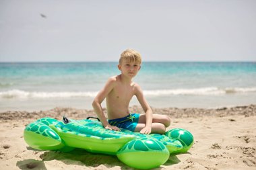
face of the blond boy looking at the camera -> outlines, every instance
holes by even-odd
[[[138,62],[123,60],[121,64],[118,65],[118,68],[122,74],[128,77],[135,77],[139,72],[140,64]]]

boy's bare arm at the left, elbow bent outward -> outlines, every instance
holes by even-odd
[[[100,105],[102,101],[106,98],[106,95],[108,95],[108,93],[112,91],[114,86],[115,86],[115,79],[114,78],[108,79],[105,87],[98,93],[98,95],[96,95],[94,101],[92,102],[92,107],[94,108],[94,112],[96,112],[104,128],[109,130],[120,130],[119,128],[117,128],[117,126],[110,126],[110,124],[108,124],[108,121],[106,120],[106,117]]]

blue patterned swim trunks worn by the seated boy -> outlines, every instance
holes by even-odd
[[[124,128],[134,132],[137,124],[139,122],[139,114],[129,114],[123,118],[108,120],[108,123],[112,126],[117,126],[119,128]]]

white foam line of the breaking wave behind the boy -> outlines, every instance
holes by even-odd
[[[13,89],[9,91],[1,91],[1,98],[71,98],[71,97],[95,97],[98,91],[22,91]],[[256,93],[256,87],[205,87],[197,89],[161,89],[161,90],[145,90],[146,96],[166,96],[166,95],[225,95],[230,93]]]

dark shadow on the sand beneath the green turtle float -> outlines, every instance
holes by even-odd
[[[107,168],[120,166],[123,170],[133,169],[119,161],[119,159],[116,156],[89,153],[88,151],[79,148],[75,148],[75,150],[68,153],[59,151],[39,151],[30,147],[28,147],[28,150],[42,152],[42,154],[39,156],[41,161],[35,159],[26,159],[24,161],[18,161],[16,165],[22,170],[46,170],[44,162],[52,160],[62,161],[63,163],[65,163],[65,165],[81,165],[86,167],[92,167],[92,169],[100,165],[104,165]],[[164,165],[168,166],[179,162],[180,160],[175,155],[170,155],[170,158],[166,163],[164,163]],[[156,169],[162,169],[162,167],[158,167]]]

